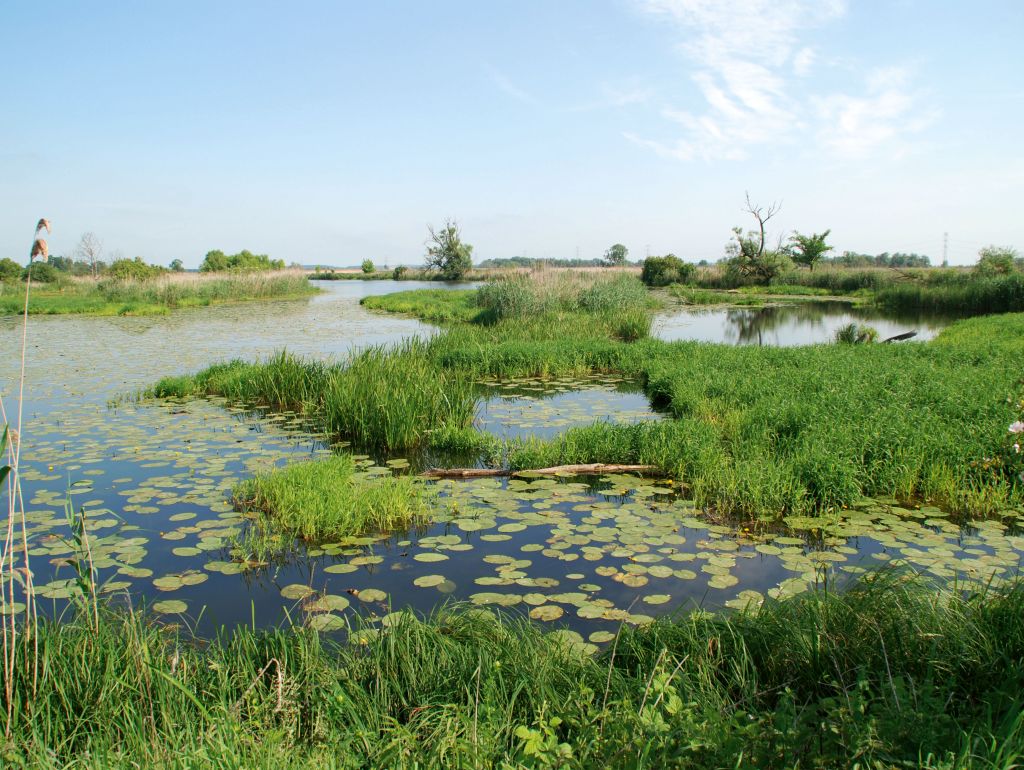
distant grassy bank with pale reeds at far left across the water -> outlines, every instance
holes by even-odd
[[[298,299],[317,292],[302,273],[170,273],[146,281],[62,279],[33,284],[30,314],[154,315],[225,302]],[[25,287],[4,285],[0,314],[23,312]]]

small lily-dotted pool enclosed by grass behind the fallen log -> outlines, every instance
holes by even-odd
[[[487,380],[478,384],[474,425],[502,438],[551,438],[596,421],[658,420],[640,384],[621,377]]]

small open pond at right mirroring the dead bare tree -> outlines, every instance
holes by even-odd
[[[934,337],[949,320],[923,313],[891,313],[848,302],[798,302],[793,305],[687,309],[655,317],[652,335],[667,341],[696,340],[739,345],[829,343],[848,324],[866,324],[880,339],[916,332]]]

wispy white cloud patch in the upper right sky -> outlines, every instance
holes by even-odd
[[[804,81],[822,67],[806,38],[840,19],[844,0],[638,1],[683,33],[680,48],[695,66],[690,78],[701,97],[699,109],[662,111],[681,129],[674,141],[627,136],[665,157],[742,160],[759,147],[807,140],[848,156],[922,126],[905,120],[918,97],[895,71],[872,75],[861,95],[806,93]]]

